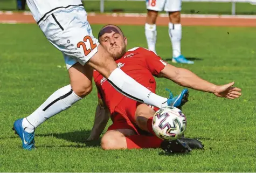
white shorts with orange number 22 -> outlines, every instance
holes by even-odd
[[[39,27],[46,38],[63,52],[67,69],[77,62],[85,65],[98,52],[99,41],[93,36],[83,6],[54,12]]]

